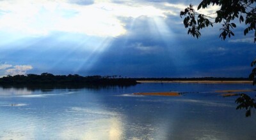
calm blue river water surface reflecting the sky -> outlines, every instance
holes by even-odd
[[[143,83],[134,87],[0,88],[0,139],[256,139],[256,113],[216,90],[250,84]],[[136,92],[188,92],[180,97]],[[253,92],[248,92],[255,96]]]

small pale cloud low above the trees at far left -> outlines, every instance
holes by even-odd
[[[28,70],[30,70],[30,69],[33,69],[33,67],[30,66],[30,65],[13,66],[12,69],[6,69],[5,74],[6,74],[6,75],[10,74],[10,75],[12,75],[12,76],[13,76],[13,75],[17,75],[17,74],[22,75],[22,74],[26,74],[26,72],[27,72]]]

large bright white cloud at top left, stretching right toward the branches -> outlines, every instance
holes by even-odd
[[[0,31],[44,36],[53,31],[78,32],[90,36],[115,37],[125,34],[125,24],[118,17],[166,17],[177,15],[182,5],[118,4],[94,1],[89,5],[69,0],[0,1]],[[177,10],[176,10],[177,11]]]

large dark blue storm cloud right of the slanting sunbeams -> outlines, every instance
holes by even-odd
[[[221,41],[218,26],[202,31],[200,39],[192,38],[182,24],[172,24],[178,19],[165,20],[174,35],[163,40],[150,29],[148,17],[123,18],[127,34],[115,39],[97,66],[106,69],[106,74],[138,77],[248,76],[256,51],[252,44],[229,38]],[[240,30],[236,38],[244,38]]]

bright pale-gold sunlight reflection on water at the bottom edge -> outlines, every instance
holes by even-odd
[[[81,125],[65,123],[60,130],[60,139],[122,139],[120,118],[98,118],[90,122],[79,121]]]

